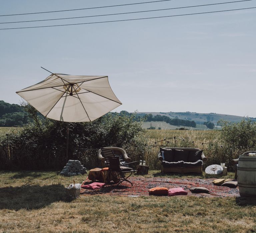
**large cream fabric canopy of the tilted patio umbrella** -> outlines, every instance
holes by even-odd
[[[92,121],[122,104],[108,76],[51,74],[16,93],[45,117],[66,122]]]

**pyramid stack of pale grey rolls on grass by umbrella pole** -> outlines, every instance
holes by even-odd
[[[79,160],[68,160],[68,163],[63,167],[60,175],[73,176],[82,175],[86,172],[86,168],[81,164]]]

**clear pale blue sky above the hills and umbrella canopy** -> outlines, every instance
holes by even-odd
[[[0,15],[80,9],[152,0],[0,0]],[[232,0],[230,0],[232,1]],[[223,3],[170,0],[45,14],[0,22],[114,14]],[[256,0],[69,20],[0,24],[1,28],[100,22],[256,7]],[[49,73],[108,76],[122,102],[113,112],[198,112],[256,117],[256,9],[73,26],[0,30],[0,100]]]

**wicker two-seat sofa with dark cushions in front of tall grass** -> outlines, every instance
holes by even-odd
[[[178,173],[202,173],[203,161],[207,160],[202,150],[191,147],[160,147],[158,159],[162,172]]]

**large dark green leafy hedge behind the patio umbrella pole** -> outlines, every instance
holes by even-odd
[[[134,118],[107,114],[92,122],[69,123],[68,159],[97,167],[96,149],[105,146],[122,147],[132,159],[143,158],[147,139],[141,135],[145,130]],[[66,123],[48,118],[35,122],[1,138],[1,169],[60,169],[66,164]]]

